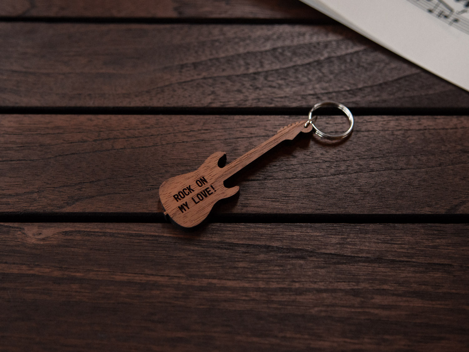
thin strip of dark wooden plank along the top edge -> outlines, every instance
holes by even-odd
[[[298,0],[3,0],[0,16],[101,18],[327,18]]]

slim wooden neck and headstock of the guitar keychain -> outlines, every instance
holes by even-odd
[[[228,177],[233,176],[235,173],[240,171],[242,168],[249,165],[251,162],[255,161],[262,154],[271,150],[274,146],[283,142],[284,140],[289,140],[295,138],[300,132],[310,132],[311,125],[308,124],[307,127],[304,127],[305,121],[295,122],[291,125],[285,126],[277,132],[276,135],[267,139],[260,145],[257,145],[254,149],[251,149],[249,152],[243,154],[238,159],[230,162],[222,170],[223,180],[226,180]]]

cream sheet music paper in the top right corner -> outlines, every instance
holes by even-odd
[[[302,0],[469,91],[469,0]]]

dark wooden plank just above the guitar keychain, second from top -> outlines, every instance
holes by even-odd
[[[340,26],[0,23],[0,47],[0,107],[469,107]]]

